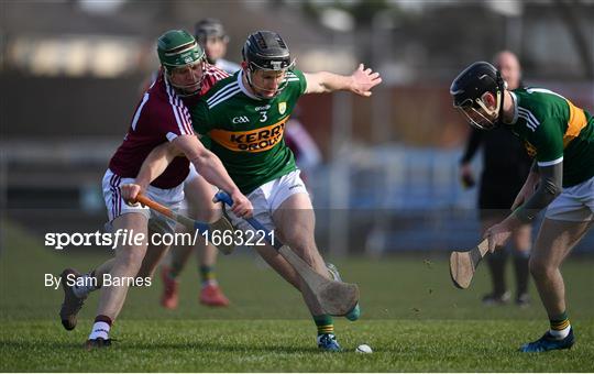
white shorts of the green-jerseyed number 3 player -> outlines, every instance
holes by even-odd
[[[254,218],[266,229],[271,231],[276,229],[272,216],[286,199],[295,194],[306,194],[309,196],[299,174],[299,170],[290,172],[280,178],[265,183],[248,195],[254,207]],[[243,231],[253,230],[244,219],[233,215],[229,207],[226,207],[226,211],[235,228]]]

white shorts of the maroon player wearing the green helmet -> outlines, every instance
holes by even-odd
[[[148,207],[143,207],[140,204],[131,206],[122,199],[120,186],[129,183],[134,183],[134,178],[122,178],[113,174],[110,169],[103,176],[103,199],[106,200],[109,223],[125,213],[141,213],[148,220],[148,229],[152,231],[174,233],[176,227],[174,220],[156,211],[152,211]],[[182,200],[184,200],[184,184],[169,189],[148,186],[145,194],[152,200],[166,206],[173,211],[178,211]]]

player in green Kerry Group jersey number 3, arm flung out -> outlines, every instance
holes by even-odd
[[[292,151],[285,145],[284,130],[297,99],[304,94],[336,90],[364,97],[382,79],[362,64],[350,76],[327,72],[301,73],[285,41],[275,32],[251,34],[243,46],[242,69],[215,85],[197,106],[190,108],[197,132],[209,140],[231,178],[254,206],[254,217],[283,240],[312,268],[326,277],[340,278],[336,266],[324,263],[314,238],[315,212],[299,177]],[[139,178],[156,177],[173,154],[167,146],[155,148],[145,160]],[[231,217],[242,230],[245,221]],[[304,287],[304,280],[289,263],[270,245],[254,245],[261,256],[288,283],[302,292],[318,328],[318,346],[340,351],[332,317]],[[359,305],[346,316],[359,318]]]

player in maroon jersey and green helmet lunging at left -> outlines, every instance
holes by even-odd
[[[100,290],[97,317],[86,342],[87,349],[108,346],[110,329],[125,300],[130,277],[152,277],[167,245],[151,240],[153,233],[173,233],[175,222],[140,205],[130,206],[122,194],[135,182],[146,155],[157,145],[170,144],[185,157],[176,157],[167,169],[151,184],[140,183],[142,190],[153,200],[176,210],[184,199],[184,179],[191,162],[201,177],[220,188],[230,188],[234,195],[233,211],[250,215],[252,204],[231,180],[221,161],[206,150],[196,138],[187,105],[195,102],[224,72],[208,65],[205,53],[194,36],[182,30],[172,30],[160,36],[157,54],[162,65],[157,79],[144,92],[132,116],[132,121],[122,144],[111,157],[103,176],[103,197],[113,232],[127,230],[144,235],[140,245],[130,241],[118,243],[116,255],[86,274],[67,268],[62,273],[64,302],[59,310],[62,324],[73,330],[77,314],[89,293]],[[211,186],[207,184],[208,189]],[[215,221],[220,209],[211,202],[212,196],[201,202],[205,220]],[[103,275],[109,275],[114,285],[103,285]],[[76,282],[68,282],[76,279]],[[120,280],[119,280],[120,279]],[[124,282],[125,280],[125,282]],[[117,282],[121,284],[118,285]]]

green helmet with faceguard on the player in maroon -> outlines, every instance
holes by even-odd
[[[161,65],[170,72],[205,58],[205,51],[194,36],[184,30],[169,30],[158,37],[157,54]]]

